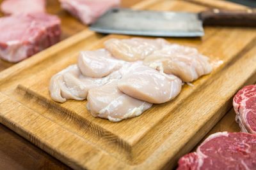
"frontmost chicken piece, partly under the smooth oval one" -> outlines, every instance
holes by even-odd
[[[111,122],[138,117],[151,106],[118,90],[117,80],[88,92],[87,108],[93,117],[108,118]]]

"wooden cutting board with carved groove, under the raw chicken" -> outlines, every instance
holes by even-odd
[[[187,1],[147,2],[140,8],[206,10]],[[169,103],[118,123],[93,118],[86,101],[54,103],[51,76],[109,38],[128,36],[99,39],[82,31],[1,72],[0,122],[75,169],[170,169],[227,113],[236,91],[256,79],[256,30],[207,27],[204,38],[167,39],[198,48],[215,65]]]

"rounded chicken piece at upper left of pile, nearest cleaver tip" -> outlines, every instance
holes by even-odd
[[[111,57],[111,54],[104,50],[81,52],[78,57],[78,67],[84,76],[101,78],[108,76],[122,67],[121,60]]]

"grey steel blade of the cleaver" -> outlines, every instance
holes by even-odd
[[[90,29],[105,34],[161,37],[204,36],[203,23],[197,13],[176,11],[114,8],[90,25]]]

